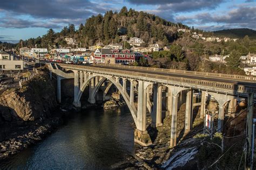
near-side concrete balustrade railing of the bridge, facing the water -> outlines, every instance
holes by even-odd
[[[68,65],[68,64],[59,64],[63,68],[68,69],[87,69],[92,70],[95,72],[109,72],[113,75],[113,73],[116,74],[122,74],[126,77],[129,76],[136,76],[136,77],[148,77],[151,79],[160,79],[160,80],[167,80],[172,82],[183,82],[183,83],[189,83],[189,84],[197,84],[201,86],[207,86],[207,87],[215,87],[219,89],[226,89],[226,90],[233,90],[233,91],[254,91],[254,87],[245,87],[243,85],[238,85],[235,83],[226,83],[226,82],[217,82],[217,81],[207,81],[207,80],[199,80],[199,79],[191,79],[191,78],[185,78],[185,77],[178,77],[178,76],[169,76],[169,75],[158,75],[158,74],[148,74],[148,73],[139,73],[139,72],[129,72],[124,70],[117,70],[112,68],[100,68],[100,67],[90,67],[90,66],[79,66],[79,65]]]

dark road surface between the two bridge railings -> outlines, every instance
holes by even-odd
[[[180,73],[166,73],[166,72],[159,72],[159,71],[152,71],[152,70],[142,70],[137,69],[134,70],[133,68],[120,68],[120,67],[111,67],[111,66],[102,66],[102,65],[86,65],[90,67],[100,67],[100,68],[111,68],[111,69],[119,69],[127,72],[139,72],[139,73],[147,73],[147,74],[157,74],[157,75],[165,75],[165,76],[178,76],[178,77],[184,77],[184,78],[194,78],[199,80],[207,80],[207,81],[218,81],[218,82],[224,82],[224,83],[234,83],[234,84],[241,84],[245,86],[251,86],[256,87],[256,82],[246,82],[246,81],[239,81],[239,80],[232,80],[232,79],[224,79],[224,78],[218,78],[218,77],[205,77],[205,76],[195,76],[195,75],[186,75],[186,74],[180,74]]]

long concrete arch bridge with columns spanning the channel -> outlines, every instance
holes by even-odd
[[[115,86],[130,109],[136,130],[134,141],[140,145],[152,144],[146,131],[146,112],[152,118],[152,126],[163,125],[165,115],[172,116],[171,147],[177,144],[177,112],[180,101],[186,103],[185,132],[192,128],[193,107],[200,106],[200,118],[204,118],[207,96],[218,102],[218,130],[223,130],[225,114],[234,112],[239,97],[248,98],[249,111],[252,112],[256,79],[249,76],[214,73],[188,72],[184,70],[157,69],[120,65],[67,65],[49,64],[50,76],[57,76],[58,102],[61,102],[60,84],[63,79],[74,80],[73,105],[81,107],[80,98],[89,87],[88,101],[96,102],[96,95],[103,88],[103,98],[111,86]],[[107,82],[107,83],[106,83]],[[137,89],[138,93],[134,93]],[[195,102],[194,92],[200,94]],[[134,104],[137,96],[137,107]],[[226,111],[228,110],[228,111]]]

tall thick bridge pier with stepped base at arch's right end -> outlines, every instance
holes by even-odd
[[[138,111],[137,111],[137,129],[134,132],[134,142],[149,146],[152,144],[149,133],[146,131],[146,90],[144,90],[144,82],[139,81],[138,87]]]

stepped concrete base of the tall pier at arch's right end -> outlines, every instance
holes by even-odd
[[[140,131],[138,129],[134,132],[134,142],[142,146],[152,145],[149,133],[147,131]]]

